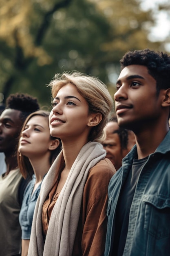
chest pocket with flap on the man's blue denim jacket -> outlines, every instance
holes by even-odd
[[[145,195],[144,230],[161,239],[170,235],[170,198],[163,195]]]

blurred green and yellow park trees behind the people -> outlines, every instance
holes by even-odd
[[[125,52],[170,52],[170,1],[155,1],[1,0],[0,104],[26,92],[50,108],[47,85],[71,70],[99,77],[113,96]],[[163,38],[158,14],[167,17]]]

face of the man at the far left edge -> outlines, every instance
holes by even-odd
[[[11,155],[18,145],[18,136],[23,121],[20,119],[20,111],[5,109],[0,115],[0,152]]]

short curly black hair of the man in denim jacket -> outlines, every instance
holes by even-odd
[[[170,88],[170,55],[150,49],[127,52],[120,60],[121,70],[129,65],[143,65],[156,80],[157,92]]]

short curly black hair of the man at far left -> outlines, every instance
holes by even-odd
[[[29,94],[17,92],[15,94],[10,94],[7,98],[5,109],[8,108],[19,110],[21,112],[20,118],[24,122],[26,117],[32,112],[39,110],[40,106],[37,98],[32,97]]]

